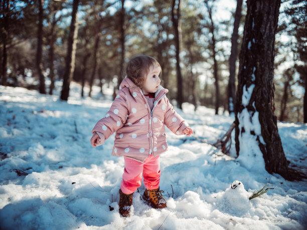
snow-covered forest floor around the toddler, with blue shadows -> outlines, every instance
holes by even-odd
[[[307,228],[306,181],[248,170],[212,145],[170,131],[160,184],[168,207],[157,210],[144,203],[141,185],[133,194],[133,215],[121,217],[124,161],[110,155],[114,135],[97,148],[89,142],[91,129],[112,103],[111,92],[104,89],[102,96],[95,87],[92,99],[80,99],[80,87],[72,83],[63,102],[59,89],[60,83],[49,96],[0,86],[0,229]],[[209,143],[233,122],[205,107],[194,112],[190,104],[177,111],[195,136]],[[307,125],[279,122],[278,128],[290,165],[306,173]],[[234,180],[242,183],[231,189]],[[248,199],[267,183],[274,189]]]

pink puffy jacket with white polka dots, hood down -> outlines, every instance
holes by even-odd
[[[168,150],[165,125],[175,134],[182,135],[189,126],[173,109],[166,97],[169,90],[159,86],[154,108],[150,111],[139,87],[125,78],[105,117],[92,130],[107,139],[116,132],[112,155],[127,156],[143,161],[150,154],[158,156]]]

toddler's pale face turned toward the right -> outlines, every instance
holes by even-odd
[[[149,72],[145,76],[146,77],[145,83],[141,87],[143,94],[157,92],[158,87],[160,86],[161,83],[161,80],[159,78],[160,73],[161,73],[161,68],[159,66],[152,65],[149,67]]]

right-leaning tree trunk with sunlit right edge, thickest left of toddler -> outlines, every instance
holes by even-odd
[[[67,101],[69,96],[69,85],[75,70],[76,43],[78,34],[77,12],[79,0],[74,0],[71,15],[71,24],[68,37],[66,67],[63,75],[63,86],[61,91],[61,100]]]

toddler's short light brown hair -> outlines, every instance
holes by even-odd
[[[134,56],[128,62],[127,67],[126,67],[125,72],[126,72],[127,78],[129,78],[138,87],[141,87],[146,80],[146,75],[149,72],[150,66],[154,66],[154,65],[159,66],[161,69],[159,62],[150,56],[146,56],[146,55]]]

